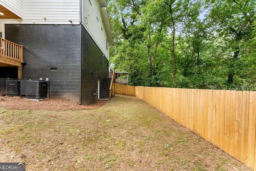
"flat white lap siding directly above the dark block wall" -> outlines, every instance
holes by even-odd
[[[23,0],[23,20],[79,24],[80,0]],[[42,24],[42,23],[40,23]]]

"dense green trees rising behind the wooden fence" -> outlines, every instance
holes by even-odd
[[[256,87],[255,0],[110,0],[113,69],[130,85]]]

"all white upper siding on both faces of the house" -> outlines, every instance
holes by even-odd
[[[0,0],[0,3],[22,18],[0,20],[0,32],[3,38],[5,38],[5,24],[78,25],[80,24],[80,3],[82,3],[82,25],[109,60],[109,42],[99,0]],[[69,22],[70,20],[72,23]]]

